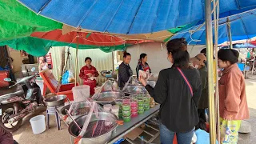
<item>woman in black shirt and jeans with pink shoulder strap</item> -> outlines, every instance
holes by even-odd
[[[194,126],[199,122],[198,102],[202,92],[200,74],[190,66],[185,38],[170,40],[166,47],[167,59],[173,65],[160,71],[156,86],[152,88],[146,85],[145,78],[139,78],[151,97],[161,104],[161,143],[172,143],[174,134],[177,134],[179,144],[190,144]]]

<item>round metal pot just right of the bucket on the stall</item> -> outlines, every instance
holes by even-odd
[[[125,94],[119,91],[105,91],[99,93],[97,98],[94,99],[98,103],[106,104],[114,102],[114,100],[124,97]]]

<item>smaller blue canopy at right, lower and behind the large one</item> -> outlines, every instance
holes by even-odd
[[[255,1],[256,2],[256,1]],[[218,44],[229,41],[227,30],[227,18],[219,19],[218,27]],[[230,16],[230,29],[232,40],[242,40],[256,37],[256,9],[246,11],[242,14]],[[214,28],[214,27],[213,27]],[[190,45],[206,44],[206,27],[205,25],[193,26],[190,29],[182,30],[174,35],[174,38],[186,38]],[[193,41],[193,40],[194,41]],[[199,41],[198,41],[199,40]]]

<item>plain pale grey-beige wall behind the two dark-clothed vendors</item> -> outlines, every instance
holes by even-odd
[[[199,54],[200,51],[205,48],[203,45],[188,46],[190,57],[194,57]],[[167,50],[164,43],[161,42],[146,42],[139,45],[128,46],[127,52],[132,56],[130,67],[136,74],[136,66],[138,64],[139,55],[142,53],[147,54],[147,61],[150,65],[150,69],[153,73],[159,73],[160,70],[170,67],[170,62],[167,60]]]

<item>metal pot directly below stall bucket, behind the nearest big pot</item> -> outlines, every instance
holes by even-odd
[[[71,116],[75,119],[75,118],[78,118],[78,117],[80,117],[80,116],[82,116],[82,115],[88,114],[88,113],[89,113],[89,110],[90,110],[90,107],[92,106],[92,104],[93,104],[93,102],[74,102],[74,103],[73,103],[73,106],[72,106],[72,107],[74,108],[74,110],[72,110],[72,111],[70,112]],[[70,110],[70,106],[71,106],[71,105],[72,105],[72,104],[69,104],[69,105],[66,105],[66,106],[62,107],[62,109],[59,110],[59,114],[61,114],[62,117],[65,116],[65,115],[67,115],[67,114],[66,114],[66,110]],[[84,113],[84,114],[75,114],[75,113],[76,113],[75,110],[78,110],[78,109],[80,109],[80,108],[88,108],[88,110],[86,110],[86,113]],[[99,111],[102,111],[102,106],[99,106],[99,105],[98,105],[98,108],[99,108]],[[70,117],[68,117],[67,120],[66,120],[66,122],[69,124],[69,123],[72,122],[72,119],[71,119]]]

